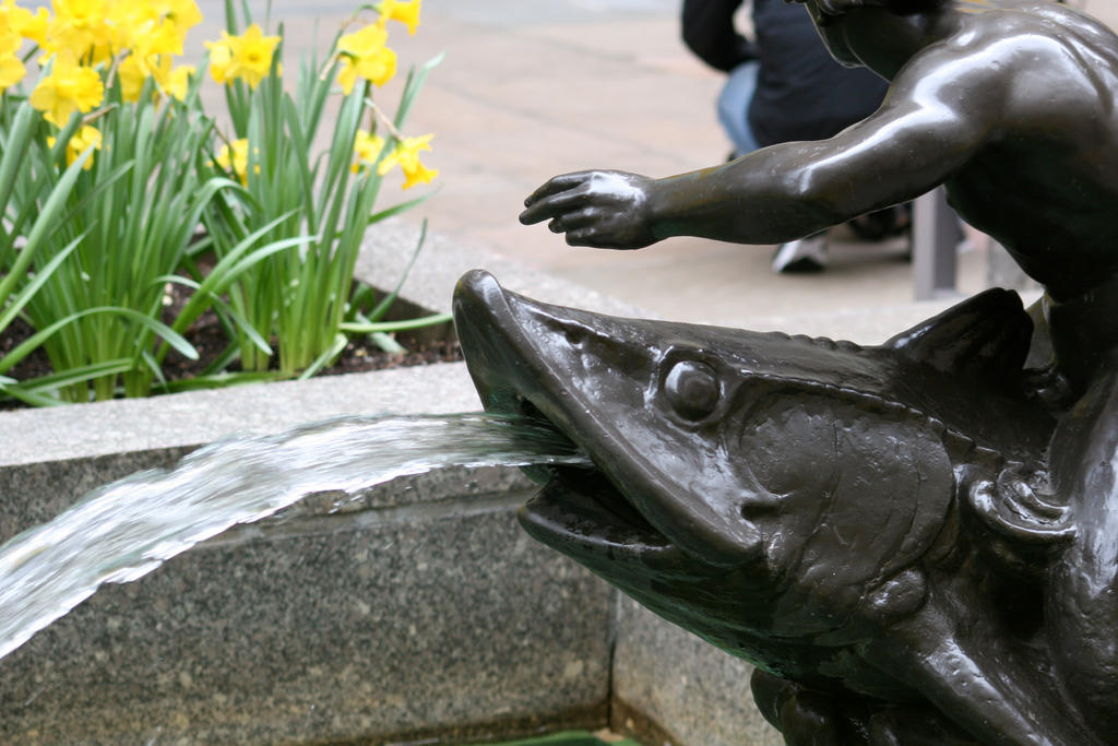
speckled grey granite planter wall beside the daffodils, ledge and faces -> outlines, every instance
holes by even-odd
[[[414,232],[367,252],[395,276]],[[473,266],[541,299],[632,309],[435,237],[410,298]],[[87,490],[238,431],[352,413],[477,409],[462,363],[0,413],[0,539]],[[779,743],[748,667],[528,538],[515,470],[448,470],[330,495],[107,586],[0,661],[0,740],[470,743],[546,727],[656,743]],[[652,743],[652,740],[647,740]]]

